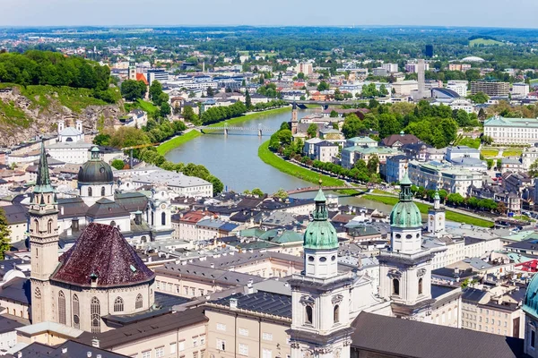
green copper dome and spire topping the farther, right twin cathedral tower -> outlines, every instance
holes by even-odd
[[[390,226],[414,228],[422,226],[421,210],[412,202],[411,180],[405,171],[404,179],[400,182],[400,201],[390,212]]]

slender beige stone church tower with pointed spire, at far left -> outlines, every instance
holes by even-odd
[[[58,205],[48,175],[47,154],[41,143],[38,178],[30,202],[32,323],[53,320],[49,279],[58,265]]]

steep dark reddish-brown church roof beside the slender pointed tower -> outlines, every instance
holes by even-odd
[[[91,223],[74,246],[60,258],[52,279],[77,286],[127,286],[155,276],[138,257],[117,227]]]

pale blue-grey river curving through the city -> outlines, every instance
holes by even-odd
[[[314,111],[315,109],[299,110],[299,118]],[[258,124],[263,124],[266,128],[276,129],[280,128],[282,122],[289,122],[290,119],[291,112],[262,115],[244,125],[257,127]],[[170,150],[165,157],[174,163],[195,163],[207,167],[213,175],[221,179],[228,191],[243,192],[260,188],[263,192],[272,193],[280,188],[290,190],[312,186],[312,183],[286,175],[258,158],[258,147],[269,139],[270,134],[259,138],[256,133],[246,134],[231,130],[228,136],[221,132],[208,133]],[[296,197],[314,198],[315,195],[316,192],[306,192]],[[386,213],[392,209],[391,205],[360,197],[343,197],[339,201],[342,205],[364,206]]]

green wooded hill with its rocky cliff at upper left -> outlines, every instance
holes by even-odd
[[[48,51],[0,54],[0,145],[52,132],[59,119],[105,125],[120,99],[107,66]]]

